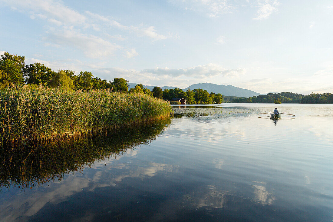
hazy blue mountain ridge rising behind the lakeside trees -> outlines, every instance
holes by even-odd
[[[130,88],[134,87],[135,85],[137,85],[137,83],[130,83],[128,84],[130,86]],[[148,88],[151,91],[154,89],[155,86],[148,86],[148,85],[143,85],[144,88]],[[164,90],[165,88],[167,89],[175,89],[178,87],[173,87],[173,86],[163,86],[161,87],[162,90]],[[252,96],[258,96],[261,95],[262,93],[257,93],[254,92],[252,90],[249,89],[243,89],[243,88],[239,88],[239,87],[235,87],[232,85],[217,85],[217,84],[213,84],[213,83],[197,83],[197,84],[192,84],[189,87],[186,87],[185,89],[182,89],[183,91],[186,91],[187,89],[203,89],[203,90],[207,90],[209,93],[213,92],[213,93],[221,93],[224,96],[239,96],[239,97],[252,97]]]

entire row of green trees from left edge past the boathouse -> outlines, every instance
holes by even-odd
[[[73,90],[99,90],[107,89],[125,93],[139,93],[154,96],[160,99],[185,98],[190,104],[222,103],[221,94],[208,93],[207,90],[194,89],[183,91],[181,89],[165,89],[155,87],[153,91],[143,88],[142,84],[128,89],[129,81],[124,78],[115,78],[111,81],[94,77],[91,72],[82,71],[75,75],[72,70],[59,69],[57,72],[42,63],[25,65],[24,55],[11,55],[7,52],[0,59],[0,89],[10,85],[44,85],[51,88]]]

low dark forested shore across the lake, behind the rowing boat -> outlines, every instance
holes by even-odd
[[[233,103],[333,103],[331,93],[302,95],[291,92],[268,93],[267,95],[233,99]]]

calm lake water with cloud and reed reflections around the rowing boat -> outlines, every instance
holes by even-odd
[[[295,116],[258,115],[275,107]],[[173,110],[171,120],[6,151],[1,220],[333,220],[333,104]]]

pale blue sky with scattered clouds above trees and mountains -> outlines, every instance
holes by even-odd
[[[106,80],[333,93],[332,0],[0,0],[0,54]]]

